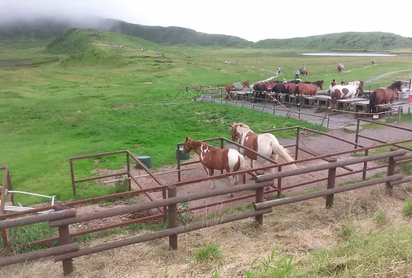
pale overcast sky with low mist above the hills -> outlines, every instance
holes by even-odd
[[[412,37],[411,0],[0,0],[2,20],[29,14],[92,14],[252,41],[349,31]]]

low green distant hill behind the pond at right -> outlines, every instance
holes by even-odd
[[[345,32],[304,38],[267,39],[256,48],[323,50],[391,50],[412,48],[412,38],[383,32]]]

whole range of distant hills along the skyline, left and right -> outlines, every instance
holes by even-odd
[[[183,27],[146,26],[116,19],[91,17],[85,19],[41,18],[0,26],[0,38],[56,38],[72,27],[95,29],[137,36],[160,45],[183,45],[186,47],[255,47],[275,49],[323,49],[323,50],[380,50],[412,48],[412,38],[383,32],[345,32],[308,36],[304,38],[266,39],[253,43],[236,36],[205,34]]]

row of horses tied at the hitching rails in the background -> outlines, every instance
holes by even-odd
[[[334,107],[336,105],[336,100],[352,99],[358,96],[360,92],[363,92],[364,81],[354,80],[348,82],[347,84],[336,84],[332,82],[329,86],[329,94],[331,98],[331,105]],[[248,81],[242,81],[244,88],[250,88],[250,83]],[[267,100],[268,97],[272,97],[268,93],[284,93],[286,95],[316,95],[318,93],[317,89],[323,90],[323,80],[318,80],[315,82],[300,80],[286,80],[279,81],[261,81],[253,84],[253,102],[262,102],[262,100]],[[225,93],[226,97],[229,97],[229,93],[236,91],[233,84],[228,84]],[[402,91],[402,82],[393,82],[386,89],[376,89],[369,95],[369,112],[376,113],[376,105],[393,103],[396,93]],[[277,100],[277,95],[272,97],[273,100]]]

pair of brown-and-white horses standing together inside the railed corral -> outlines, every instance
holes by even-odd
[[[263,157],[267,157],[277,162],[278,157],[286,162],[294,162],[295,160],[290,157],[290,151],[279,144],[275,135],[271,133],[255,133],[246,124],[231,124],[230,125],[231,140],[238,141],[238,143],[246,148],[253,150],[240,150],[228,149],[228,148],[216,148],[208,145],[203,141],[193,140],[192,137],[186,137],[185,143],[183,143],[183,153],[188,154],[194,150],[198,154],[199,159],[205,169],[208,176],[214,175],[214,170],[226,170],[227,173],[238,172],[245,170],[244,157],[251,160],[250,165],[253,168],[253,164],[262,163],[265,166],[269,161],[258,157],[256,152]],[[290,165],[293,168],[297,168],[296,164]],[[275,169],[271,168],[270,172],[274,172]],[[255,172],[258,174],[258,172]],[[243,183],[246,183],[246,174],[233,174],[229,176],[229,180],[232,185],[240,183],[240,176]],[[235,178],[234,180],[232,178]],[[211,180],[211,189],[216,187],[215,180]],[[233,196],[233,194],[229,194]]]

